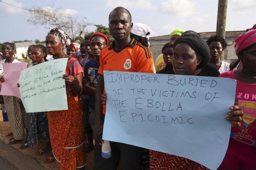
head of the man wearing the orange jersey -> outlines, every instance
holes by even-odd
[[[125,9],[117,9],[110,14],[109,31],[116,41],[123,41],[130,38],[132,22],[129,13]]]

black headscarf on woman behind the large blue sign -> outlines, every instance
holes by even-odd
[[[202,57],[202,61],[196,69],[201,69],[204,67],[208,61],[210,56],[210,49],[206,42],[202,38],[200,38],[197,34],[183,34],[174,42],[173,49],[175,49],[178,43],[187,43],[198,56]]]

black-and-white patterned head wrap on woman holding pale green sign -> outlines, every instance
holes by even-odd
[[[64,45],[64,49],[70,44],[70,38],[66,32],[58,28],[50,28],[48,35],[58,38]]]

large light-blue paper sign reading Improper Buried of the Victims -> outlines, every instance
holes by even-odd
[[[103,139],[194,160],[214,170],[228,147],[236,81],[104,71]]]

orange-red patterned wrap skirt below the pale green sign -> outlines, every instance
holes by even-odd
[[[47,113],[52,152],[61,170],[86,164],[82,105],[77,95],[67,93],[68,110]]]

